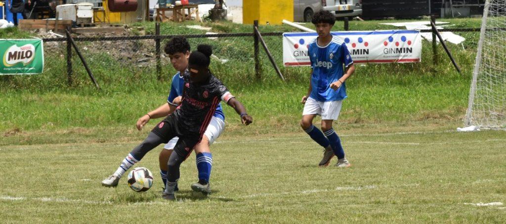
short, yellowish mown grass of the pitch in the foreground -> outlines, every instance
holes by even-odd
[[[6,174],[0,218],[7,223],[505,222],[504,205],[466,204],[506,203],[503,133],[434,130],[340,131],[350,169],[319,169],[321,150],[302,132],[226,131],[212,146],[214,193],[191,193],[197,174],[190,156],[181,168],[178,202],[159,197],[160,148],[137,164],[154,174],[148,192],[135,193],[125,179],[116,189],[100,186],[138,141],[96,143],[84,136],[82,143],[0,146],[0,172]]]

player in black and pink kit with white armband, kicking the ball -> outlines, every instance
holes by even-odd
[[[197,50],[190,54],[188,70],[183,74],[185,83],[180,106],[158,123],[146,139],[130,153],[136,160],[140,160],[156,146],[179,137],[174,147],[176,153],[172,153],[167,162],[167,184],[162,194],[167,200],[176,200],[174,189],[179,180],[179,167],[202,139],[220,100],[235,109],[244,125],[252,122],[242,103],[209,71],[211,54],[212,48],[209,45],[199,45]]]

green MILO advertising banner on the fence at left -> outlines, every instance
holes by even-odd
[[[41,39],[0,39],[0,75],[38,74],[44,70]]]

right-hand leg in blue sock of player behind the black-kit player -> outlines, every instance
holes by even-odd
[[[213,166],[213,155],[209,146],[220,137],[225,130],[225,122],[213,117],[202,136],[202,140],[195,146],[195,155],[198,170],[198,182],[191,185],[192,190],[209,194],[209,178]]]

